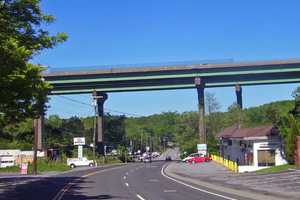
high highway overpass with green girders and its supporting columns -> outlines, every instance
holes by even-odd
[[[53,86],[52,95],[97,93],[99,142],[102,141],[103,104],[107,93],[196,88],[199,140],[205,143],[205,88],[234,86],[237,103],[242,108],[242,86],[300,82],[300,60],[50,71],[43,77]]]

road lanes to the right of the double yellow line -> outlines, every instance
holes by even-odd
[[[137,199],[137,200],[224,200],[234,199],[199,191],[166,177],[164,162],[136,163],[90,174],[63,190],[56,200]]]

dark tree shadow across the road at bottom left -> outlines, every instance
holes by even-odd
[[[87,178],[80,176],[56,176],[47,178],[35,177],[13,177],[0,179],[0,199],[2,200],[58,200],[63,192],[64,200],[83,200],[83,199],[119,199],[110,194],[85,195],[81,185],[90,183]],[[69,185],[68,185],[69,184]],[[71,184],[71,187],[69,187]],[[69,187],[69,188],[68,188]],[[66,190],[64,190],[65,188]],[[126,198],[125,198],[126,199]]]

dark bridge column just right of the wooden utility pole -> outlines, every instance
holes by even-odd
[[[101,93],[101,92],[97,92],[96,93],[96,99],[97,99],[97,137],[96,137],[96,146],[97,146],[97,151],[100,154],[104,155],[104,145],[103,145],[103,128],[104,128],[104,124],[103,124],[103,118],[104,118],[104,103],[107,99],[107,94],[106,93]]]

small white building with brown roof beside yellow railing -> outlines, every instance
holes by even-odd
[[[273,126],[229,127],[218,134],[220,154],[235,161],[239,172],[286,164],[279,132]]]

